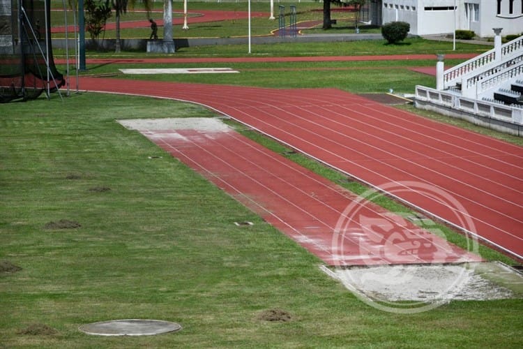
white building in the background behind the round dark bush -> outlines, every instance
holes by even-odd
[[[372,0],[381,6],[381,24],[402,21],[411,25],[410,34],[453,33],[471,30],[480,37],[522,34],[523,0]]]

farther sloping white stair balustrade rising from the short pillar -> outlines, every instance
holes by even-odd
[[[523,36],[515,38],[514,40],[503,44],[501,46],[501,57],[496,57],[496,49],[484,52],[478,57],[469,59],[462,64],[458,64],[453,68],[449,68],[444,72],[444,89],[455,86],[457,83],[461,83],[464,78],[467,78],[469,75],[477,73],[480,75],[483,73],[481,68],[484,68],[490,64],[493,64],[495,61],[503,61],[516,52],[523,50]]]

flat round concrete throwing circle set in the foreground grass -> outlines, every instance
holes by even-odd
[[[98,336],[151,336],[178,331],[181,325],[162,320],[128,319],[93,322],[78,329],[86,334]]]

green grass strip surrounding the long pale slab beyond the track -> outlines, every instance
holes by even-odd
[[[234,64],[101,64],[88,66],[86,75],[114,73],[130,80],[155,80],[162,82],[194,82],[229,84],[236,86],[270,88],[339,88],[356,93],[414,93],[414,84],[434,86],[431,75],[416,73],[414,66],[432,64],[431,61],[377,61],[377,62],[320,62],[320,63],[234,63]],[[120,68],[192,68],[229,67],[239,70],[235,74],[158,74],[125,75]],[[63,66],[59,70],[65,70]],[[377,75],[379,72],[379,75]],[[370,79],[379,76],[379,79]]]

